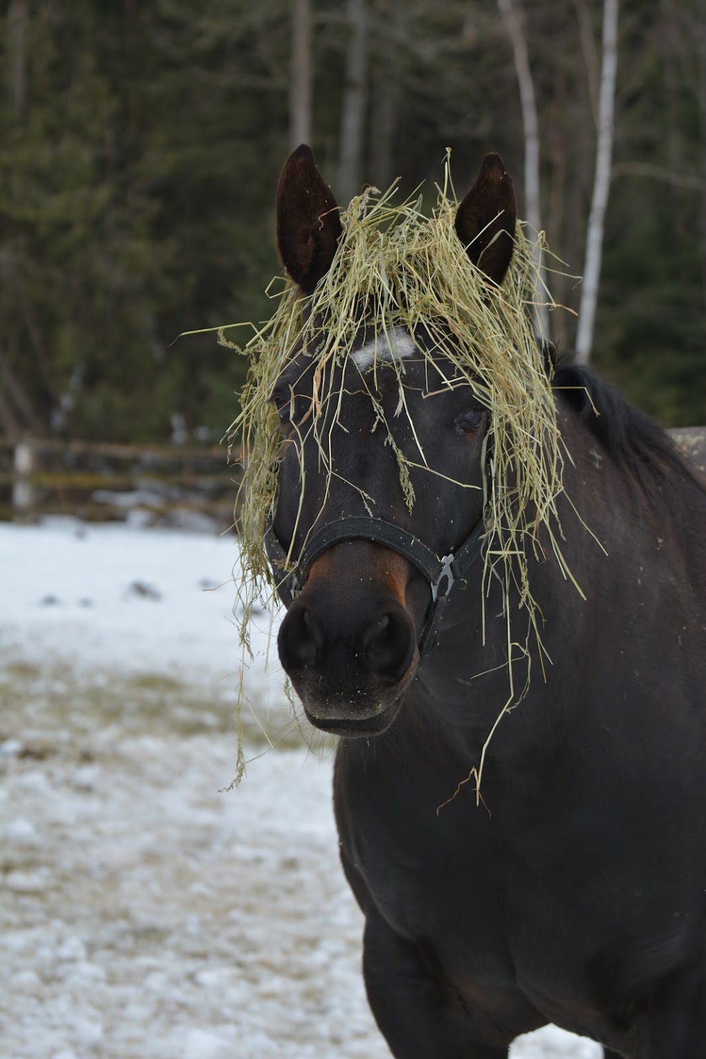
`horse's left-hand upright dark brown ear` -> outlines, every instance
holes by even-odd
[[[283,264],[305,294],[331,267],[341,235],[336,199],[302,144],[285,162],[277,184],[277,246]]]

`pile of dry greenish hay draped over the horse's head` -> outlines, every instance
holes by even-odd
[[[509,706],[522,697],[529,677],[527,668],[523,686],[515,688],[513,662],[523,657],[529,665],[530,634],[541,645],[541,615],[528,578],[530,554],[544,555],[548,543],[571,577],[559,546],[561,527],[556,507],[562,491],[560,435],[551,384],[533,329],[538,298],[548,299],[554,306],[542,289],[538,266],[546,248],[541,235],[529,243],[526,226],[519,223],[510,268],[502,287],[495,287],[471,264],[456,235],[457,202],[448,159],[445,185],[438,191],[431,217],[421,213],[420,199],[395,204],[394,193],[395,185],[382,195],[370,189],[352,199],[341,217],[343,234],[331,268],[314,293],[304,298],[294,284],[287,282],[276,295],[278,305],[272,319],[240,351],[250,359],[250,371],[242,410],[230,436],[241,441],[246,453],[240,492],[241,638],[248,646],[247,628],[254,599],[271,598],[275,588],[264,549],[265,528],[276,504],[282,454],[277,412],[270,400],[273,388],[292,352],[300,348],[314,362],[315,380],[324,388],[326,380],[331,384],[334,373],[330,367],[352,352],[360,306],[364,305],[366,342],[375,334],[382,344],[384,336],[398,326],[413,335],[423,329],[427,348],[420,346],[419,356],[430,364],[434,357],[434,371],[441,373],[439,385],[470,383],[490,412],[485,451],[491,452],[492,459],[487,468],[489,486],[484,507],[488,546],[483,592],[485,597],[492,577],[499,577],[505,590]],[[321,321],[325,321],[323,327]],[[219,339],[232,345],[223,330]],[[442,357],[449,364],[446,375],[439,369]],[[403,369],[399,364],[388,366],[398,372],[403,410]],[[324,455],[321,465],[329,475],[327,442],[321,430],[324,409],[336,407],[330,399],[338,396],[316,392],[314,387],[312,411],[302,427],[318,439]],[[370,399],[375,401],[374,388]],[[390,432],[387,441],[392,441]],[[423,453],[419,453],[418,461],[410,461],[400,452],[397,455],[400,482],[413,507],[409,472],[412,465],[424,466]],[[306,471],[303,467],[302,473]],[[319,473],[320,467],[309,472]],[[291,569],[297,559],[297,555],[290,554]],[[510,614],[512,588],[517,590],[519,609],[527,617],[521,636],[511,628],[517,618]],[[539,653],[542,658],[541,646]]]

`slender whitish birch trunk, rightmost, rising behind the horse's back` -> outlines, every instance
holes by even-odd
[[[598,140],[596,176],[583,265],[583,285],[579,305],[579,326],[576,336],[576,359],[587,364],[593,346],[593,333],[598,301],[600,259],[603,249],[603,219],[611,186],[613,159],[613,120],[615,111],[615,77],[618,60],[618,0],[603,0],[603,36],[601,44],[600,95],[598,101]]]

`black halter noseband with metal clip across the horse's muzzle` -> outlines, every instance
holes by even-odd
[[[365,516],[338,519],[322,526],[309,540],[294,571],[287,571],[287,551],[280,544],[272,522],[265,533],[265,550],[277,578],[277,594],[286,607],[296,598],[306,584],[315,559],[333,544],[346,540],[369,540],[397,552],[420,571],[429,581],[432,598],[419,638],[419,653],[426,647],[432,648],[441,614],[449,599],[449,593],[457,580],[463,580],[478,558],[485,542],[483,516],[478,519],[470,536],[455,553],[439,556],[418,537],[384,522]]]

